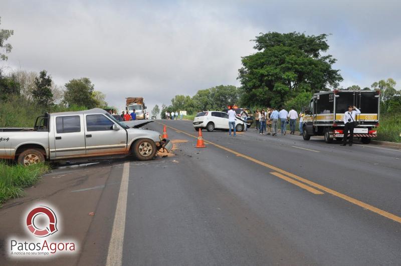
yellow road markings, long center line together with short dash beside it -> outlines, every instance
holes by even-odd
[[[165,124],[160,123],[160,122],[158,122],[158,123],[159,123],[159,124],[162,124],[162,125],[165,125]],[[175,131],[177,131],[177,132],[180,132],[180,133],[182,133],[182,134],[185,134],[185,135],[187,135],[187,136],[190,136],[190,137],[193,137],[193,138],[197,138],[196,136],[191,135],[191,134],[189,134],[189,133],[186,133],[186,132],[184,132],[184,131],[182,131],[182,130],[179,130],[179,129],[170,127],[170,126],[168,126],[168,125],[165,125],[165,126],[168,127],[168,128],[171,128],[171,129],[173,129],[173,130],[175,130]],[[397,215],[394,215],[394,214],[392,214],[392,213],[389,213],[389,212],[387,212],[387,211],[385,211],[385,210],[376,208],[376,207],[374,207],[374,206],[372,206],[372,205],[369,205],[369,204],[367,204],[367,203],[364,203],[364,202],[362,202],[362,201],[360,201],[360,200],[357,200],[357,199],[355,199],[355,198],[352,198],[352,197],[350,197],[350,196],[347,196],[347,195],[345,195],[345,194],[342,194],[342,193],[340,193],[340,192],[337,192],[337,191],[335,191],[335,190],[333,190],[333,189],[330,189],[330,188],[328,188],[328,187],[319,185],[319,184],[317,184],[317,183],[315,183],[315,182],[312,182],[312,181],[310,181],[310,180],[308,180],[308,179],[305,179],[305,178],[302,178],[302,177],[300,177],[300,176],[297,176],[297,175],[295,175],[295,174],[293,174],[293,173],[287,172],[287,171],[285,171],[285,170],[283,170],[283,169],[280,169],[280,168],[278,168],[278,167],[276,167],[276,166],[273,166],[273,165],[267,164],[267,163],[265,163],[265,162],[259,161],[259,160],[255,159],[255,158],[252,158],[252,157],[247,156],[247,155],[245,155],[245,154],[242,154],[242,153],[240,153],[240,152],[237,152],[237,151],[234,151],[234,150],[232,150],[232,149],[226,148],[226,147],[224,147],[224,146],[222,146],[222,145],[219,145],[219,144],[213,143],[213,142],[211,142],[211,141],[207,141],[207,140],[204,140],[204,142],[207,143],[207,144],[214,145],[214,146],[216,146],[216,147],[218,147],[218,148],[220,148],[220,149],[223,149],[223,150],[225,150],[225,151],[228,151],[228,152],[230,152],[230,153],[233,153],[233,154],[235,154],[235,155],[237,155],[237,156],[239,156],[239,157],[243,157],[243,158],[245,158],[245,159],[247,159],[247,160],[253,161],[253,162],[257,163],[257,164],[260,164],[260,165],[263,165],[263,166],[265,166],[265,167],[267,167],[267,168],[270,168],[270,169],[274,170],[274,172],[271,172],[271,174],[273,174],[273,175],[275,175],[275,176],[277,176],[277,177],[279,177],[279,178],[281,178],[281,179],[283,179],[283,180],[286,180],[286,181],[288,181],[288,182],[290,182],[290,183],[292,183],[292,184],[294,184],[294,185],[297,185],[297,186],[299,186],[299,187],[302,187],[303,189],[306,189],[306,190],[308,190],[309,192],[311,192],[311,193],[313,193],[313,194],[324,194],[323,192],[321,192],[321,191],[324,191],[324,192],[327,192],[327,193],[329,193],[329,194],[332,194],[332,195],[334,195],[334,196],[336,196],[336,197],[342,198],[342,199],[344,199],[344,200],[346,200],[346,201],[348,201],[348,202],[351,202],[351,203],[353,203],[353,204],[355,204],[355,205],[358,205],[358,206],[360,206],[360,207],[362,207],[362,208],[365,208],[365,209],[368,209],[368,210],[370,210],[370,211],[372,211],[372,212],[375,212],[375,213],[377,213],[377,214],[379,214],[379,215],[381,215],[381,216],[384,216],[384,217],[386,217],[386,218],[388,218],[388,219],[391,219],[391,220],[393,220],[393,221],[396,221],[396,222],[401,223],[401,217],[399,217],[399,216],[397,216]],[[288,176],[290,176],[290,177],[292,177],[292,178],[289,178]],[[309,186],[308,186],[308,185],[309,185]]]

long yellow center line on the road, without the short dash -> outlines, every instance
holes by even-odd
[[[157,123],[160,123],[160,122],[157,122]],[[160,124],[165,125],[165,124],[163,124],[163,123],[160,123]],[[175,131],[178,131],[178,132],[180,132],[180,133],[182,133],[182,134],[185,134],[185,135],[187,135],[187,136],[190,136],[190,137],[193,137],[193,138],[197,138],[196,136],[193,136],[193,135],[191,135],[191,134],[188,134],[188,133],[186,133],[186,132],[184,132],[184,131],[182,131],[182,130],[179,130],[179,129],[176,129],[176,128],[173,128],[173,127],[170,127],[170,126],[167,126],[167,125],[165,125],[165,126],[171,128],[171,129],[173,129],[173,130],[175,130]],[[360,206],[360,207],[362,207],[362,208],[368,209],[368,210],[370,210],[370,211],[372,211],[372,212],[375,212],[375,213],[377,213],[377,214],[379,214],[379,215],[381,215],[381,216],[384,216],[384,217],[386,217],[386,218],[388,218],[388,219],[391,219],[391,220],[393,220],[393,221],[396,221],[396,222],[401,223],[401,217],[396,216],[396,215],[394,215],[394,214],[392,214],[392,213],[389,213],[389,212],[387,212],[387,211],[385,211],[385,210],[376,208],[376,207],[374,207],[374,206],[372,206],[372,205],[369,205],[369,204],[367,204],[367,203],[364,203],[364,202],[362,202],[362,201],[360,201],[360,200],[357,200],[357,199],[355,199],[355,198],[352,198],[352,197],[350,197],[350,196],[347,196],[347,195],[345,195],[345,194],[342,194],[342,193],[340,193],[340,192],[337,192],[337,191],[332,190],[332,189],[330,189],[330,188],[327,188],[327,187],[325,187],[325,186],[319,185],[319,184],[317,184],[317,183],[315,183],[315,182],[313,182],[313,181],[310,181],[310,180],[308,180],[308,179],[302,178],[302,177],[300,177],[300,176],[297,176],[297,175],[295,175],[295,174],[292,174],[292,173],[290,173],[290,172],[287,172],[287,171],[285,171],[285,170],[283,170],[283,169],[280,169],[280,168],[278,168],[278,167],[276,167],[276,166],[273,166],[273,165],[267,164],[267,163],[265,163],[265,162],[259,161],[259,160],[255,159],[255,158],[252,158],[252,157],[247,156],[247,155],[245,155],[245,154],[236,152],[236,151],[234,151],[234,150],[231,150],[231,149],[226,148],[226,147],[224,147],[224,146],[221,146],[221,145],[219,145],[219,144],[216,144],[216,143],[213,143],[213,142],[207,141],[207,140],[205,140],[204,142],[206,142],[206,143],[208,143],[208,144],[212,144],[212,145],[214,145],[214,146],[216,146],[216,147],[218,147],[218,148],[221,148],[221,149],[223,149],[223,150],[225,150],[225,151],[228,151],[228,152],[231,152],[231,153],[233,153],[233,154],[236,154],[237,156],[240,156],[240,157],[243,157],[243,158],[248,159],[248,160],[250,160],[250,161],[253,161],[253,162],[257,163],[257,164],[263,165],[263,166],[265,166],[265,167],[267,167],[267,168],[270,168],[270,169],[272,169],[272,170],[274,170],[274,171],[276,171],[276,172],[279,172],[279,173],[288,175],[288,176],[290,176],[290,177],[292,177],[292,178],[294,178],[294,179],[297,179],[297,180],[299,180],[299,181],[301,181],[301,182],[303,182],[303,183],[305,183],[305,184],[308,184],[308,185],[310,185],[310,186],[313,186],[313,187],[315,187],[315,188],[318,188],[318,189],[320,189],[320,190],[323,190],[323,191],[325,191],[325,192],[327,192],[327,193],[329,193],[329,194],[332,194],[332,195],[334,195],[334,196],[337,196],[337,197],[339,197],[339,198],[342,198],[342,199],[344,199],[344,200],[346,200],[346,201],[348,201],[348,202],[351,202],[351,203],[353,203],[353,204],[355,204],[355,205],[358,205],[358,206]]]

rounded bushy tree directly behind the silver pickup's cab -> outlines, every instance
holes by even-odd
[[[65,87],[64,100],[69,106],[85,106],[89,109],[96,107],[96,101],[93,98],[95,85],[89,78],[70,80]]]

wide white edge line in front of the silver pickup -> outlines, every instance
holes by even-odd
[[[106,265],[122,265],[122,246],[124,243],[125,213],[127,210],[128,179],[129,161],[124,163],[124,168],[122,170],[120,191],[118,192],[118,200],[114,215],[113,229],[111,231],[109,249],[107,251]]]

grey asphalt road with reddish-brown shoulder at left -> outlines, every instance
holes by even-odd
[[[0,210],[0,236],[21,231],[27,202],[46,199],[82,246],[49,264],[401,264],[401,149],[254,128],[203,131],[198,149],[191,121],[148,127],[161,132],[159,122],[174,154],[55,170]]]

